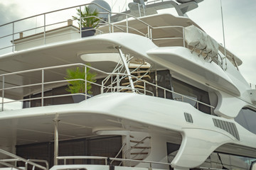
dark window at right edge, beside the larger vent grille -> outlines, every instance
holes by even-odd
[[[256,134],[256,112],[252,111],[249,108],[242,108],[238,113],[238,116],[235,118],[235,121],[242,125],[243,128],[249,130]]]

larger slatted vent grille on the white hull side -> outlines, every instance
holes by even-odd
[[[238,129],[236,128],[235,123],[230,123],[230,122],[227,122],[224,120],[218,120],[215,118],[213,118],[213,123],[215,127],[225,130],[226,132],[229,132],[237,140],[240,140]]]

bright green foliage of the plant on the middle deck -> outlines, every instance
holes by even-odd
[[[87,79],[87,94],[92,94],[92,84],[90,82],[96,82],[95,76],[96,73],[91,73],[90,68],[86,67],[86,79]],[[73,80],[73,79],[83,79],[77,81],[68,81],[68,88],[66,91],[70,92],[71,94],[85,94],[85,69],[77,67],[76,69],[67,69],[66,80]],[[88,82],[90,81],[90,82]]]

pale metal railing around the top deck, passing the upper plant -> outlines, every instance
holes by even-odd
[[[56,10],[56,11],[50,11],[48,13],[42,13],[42,14],[38,14],[36,16],[31,16],[28,18],[23,18],[17,21],[13,21],[11,23],[6,23],[4,25],[0,26],[0,42],[3,46],[0,47],[0,55],[4,55],[8,52],[14,52],[16,51],[16,45],[15,42],[17,42],[17,40],[19,40],[20,38],[31,38],[32,36],[35,35],[40,35],[41,38],[36,38],[36,40],[42,40],[42,44],[41,45],[46,45],[47,39],[48,38],[53,38],[53,37],[57,37],[57,36],[62,36],[62,35],[66,35],[68,33],[58,33],[56,35],[48,35],[50,31],[53,30],[53,28],[55,28],[54,30],[60,28],[60,26],[65,26],[65,23],[68,23],[71,21],[70,17],[71,16],[67,16],[67,18],[61,19],[61,21],[58,22],[53,22],[53,23],[48,23],[51,22],[50,18],[48,19],[48,16],[53,15],[55,13],[58,12],[65,12],[65,11],[69,11],[69,10],[75,10],[75,8],[82,8],[83,6],[88,6],[88,5],[95,5],[98,6],[99,8],[102,8],[103,10],[105,10],[106,12],[102,12],[100,14],[107,14],[107,21],[102,20],[102,18],[100,19],[100,28],[102,27],[108,27],[108,30],[103,32],[102,30],[100,30],[100,28],[96,28],[97,33],[98,34],[102,34],[102,33],[115,33],[115,32],[123,32],[123,33],[129,33],[129,30],[132,30],[134,33],[139,34],[139,35],[143,35],[151,40],[173,40],[173,39],[183,39],[183,36],[181,38],[154,38],[152,35],[152,30],[157,30],[159,28],[163,28],[161,26],[159,27],[153,27],[150,26],[148,23],[142,21],[140,18],[137,18],[135,16],[129,15],[127,13],[113,13],[108,11],[106,8],[103,8],[102,6],[99,6],[98,4],[84,4],[84,5],[80,5],[80,6],[72,6],[69,8],[63,8],[60,10]],[[70,13],[70,12],[69,12]],[[75,13],[75,11],[74,11]],[[117,21],[114,21],[115,23],[111,22],[111,17],[113,15],[119,15],[122,16],[123,18],[125,18],[125,24],[124,25],[119,25],[118,23],[116,23]],[[61,15],[60,15],[61,16]],[[97,16],[90,16],[90,17],[95,17],[98,18]],[[23,28],[23,26],[21,25],[21,23],[27,23],[31,20],[33,20],[34,18],[41,18],[41,26],[30,26],[29,28]],[[147,31],[146,33],[138,30],[137,28],[133,28],[131,26],[129,26],[129,21],[131,20],[131,18],[133,20],[139,21],[139,23],[143,24],[146,28]],[[39,22],[39,21],[37,21]],[[39,22],[40,23],[40,22]],[[29,25],[29,24],[23,24],[23,25]],[[37,24],[36,24],[37,25]],[[21,28],[19,28],[21,27]],[[181,26],[166,26],[165,28],[181,28],[183,29],[183,27]],[[7,30],[9,30],[9,33]],[[10,31],[11,30],[11,31]],[[41,30],[40,33],[36,33],[37,30]],[[72,33],[69,34],[74,34],[74,33],[82,33],[82,31],[87,31],[87,30],[82,30],[82,28],[77,28],[77,30],[74,30]],[[11,32],[11,33],[10,33]],[[181,30],[182,32],[182,30]],[[26,36],[23,36],[23,34],[27,34]],[[20,35],[20,37],[18,37],[18,35]],[[80,36],[81,37],[81,36]],[[28,42],[33,42],[35,40],[26,40],[26,42],[18,42],[18,45],[22,45],[22,44],[26,44]],[[11,50],[6,50],[6,49],[11,49]],[[4,51],[6,50],[6,51]]]

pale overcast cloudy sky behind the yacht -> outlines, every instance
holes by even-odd
[[[114,11],[125,8],[125,0],[106,0]],[[128,2],[131,0],[127,0]],[[0,0],[0,25],[48,11],[89,3],[90,0]],[[220,0],[205,0],[188,16],[203,30],[223,43]],[[226,47],[243,64],[239,67],[245,79],[256,84],[256,0],[223,0]]]

